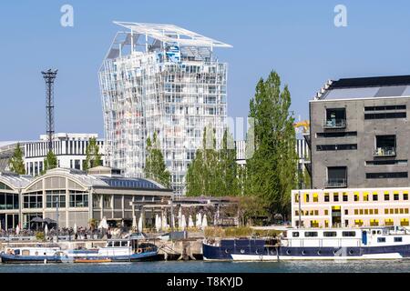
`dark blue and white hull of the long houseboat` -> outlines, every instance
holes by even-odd
[[[410,257],[410,245],[356,247],[210,246],[203,244],[204,260],[364,260]]]

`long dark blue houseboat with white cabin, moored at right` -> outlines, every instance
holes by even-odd
[[[231,261],[401,259],[410,257],[410,233],[401,226],[290,228],[274,239],[204,241],[203,257]]]

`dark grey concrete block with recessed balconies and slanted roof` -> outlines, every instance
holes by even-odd
[[[309,105],[313,188],[410,185],[410,75],[329,81]]]

